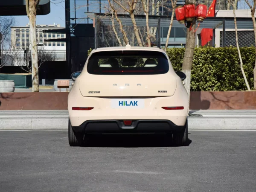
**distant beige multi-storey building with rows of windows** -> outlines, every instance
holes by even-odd
[[[66,38],[66,34],[59,34],[59,33],[43,33],[43,30],[47,29],[65,29],[61,27],[59,24],[53,25],[37,25],[36,26],[36,36],[37,36],[37,43],[38,45],[44,45],[49,47],[66,47],[66,42],[59,42],[59,41],[51,41],[47,42],[47,39],[60,39]],[[12,47],[15,49],[29,49],[30,40],[29,40],[29,24],[26,26],[12,26],[11,27],[11,41]]]

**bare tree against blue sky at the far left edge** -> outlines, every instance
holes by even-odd
[[[0,68],[12,62],[12,50],[15,44],[11,44],[10,27],[14,24],[14,17],[0,17]]]

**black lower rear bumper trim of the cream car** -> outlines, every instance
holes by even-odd
[[[122,120],[87,120],[72,128],[78,133],[150,133],[181,131],[184,126],[170,120],[133,120],[130,126],[124,125]]]

